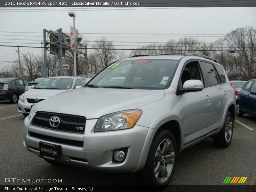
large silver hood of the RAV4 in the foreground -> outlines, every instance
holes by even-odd
[[[161,100],[164,93],[164,90],[82,87],[39,102],[36,111],[65,113],[92,119]]]

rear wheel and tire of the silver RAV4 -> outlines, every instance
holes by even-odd
[[[233,117],[228,111],[225,124],[221,128],[220,132],[213,136],[213,143],[217,147],[227,148],[232,140],[233,136]]]

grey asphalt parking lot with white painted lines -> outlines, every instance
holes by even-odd
[[[0,185],[138,185],[133,173],[102,173],[73,166],[54,166],[23,147],[24,116],[18,105],[0,101]],[[256,118],[237,117],[228,148],[206,139],[183,150],[170,185],[223,185],[226,177],[256,176]],[[5,178],[61,179],[62,183],[12,183]]]

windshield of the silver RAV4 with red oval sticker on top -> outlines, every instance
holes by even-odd
[[[178,60],[122,60],[100,72],[86,86],[164,89],[170,86]]]

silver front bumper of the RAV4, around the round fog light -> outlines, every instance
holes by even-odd
[[[135,125],[127,130],[94,132],[96,123],[97,119],[87,119],[85,132],[80,134],[36,127],[31,125],[27,117],[24,121],[24,146],[28,151],[39,155],[40,141],[61,145],[62,154],[58,161],[63,164],[78,165],[106,172],[133,172],[136,170],[150,129]],[[54,138],[83,141],[83,146],[71,146],[52,140],[42,140],[32,137],[30,132]],[[126,158],[122,163],[113,162],[113,153],[120,148],[128,148]]]

